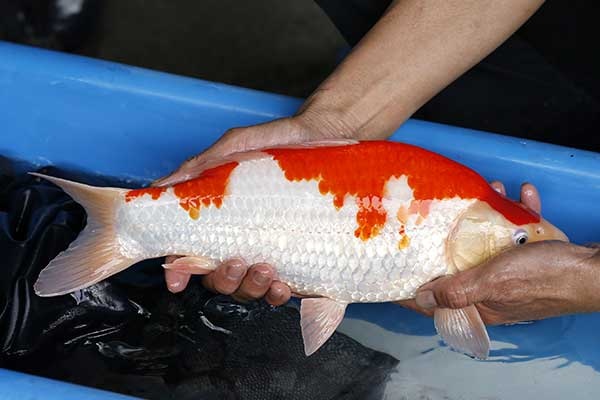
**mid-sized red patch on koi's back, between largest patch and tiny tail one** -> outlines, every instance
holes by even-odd
[[[227,190],[231,172],[238,166],[237,162],[229,162],[208,169],[195,179],[181,182],[173,186],[173,193],[179,197],[179,205],[189,212],[190,217],[197,219],[202,206],[214,205],[220,208]]]

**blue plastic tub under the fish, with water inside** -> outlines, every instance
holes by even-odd
[[[0,154],[36,165],[149,182],[226,129],[289,115],[299,104],[284,96],[0,42]],[[521,182],[532,182],[546,217],[573,241],[600,240],[598,153],[415,120],[392,139],[500,179],[513,196]],[[388,389],[407,398],[543,394],[563,399],[600,393],[596,314],[493,327],[486,362],[449,351],[429,319],[395,305],[353,305],[340,330],[400,360]],[[0,372],[0,399],[116,398]]]

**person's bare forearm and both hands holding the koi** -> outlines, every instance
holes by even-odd
[[[321,3],[326,3],[322,1]],[[383,2],[385,3],[385,2]],[[339,68],[291,118],[228,131],[161,183],[172,184],[209,159],[238,151],[329,138],[384,139],[434,94],[493,51],[541,6],[540,0],[395,1]],[[474,39],[475,38],[475,39]],[[492,183],[504,193],[501,183]],[[541,212],[523,185],[521,202]],[[275,266],[276,267],[276,266]],[[573,274],[573,269],[578,271]],[[169,290],[189,274],[166,271]],[[204,277],[209,289],[240,301],[287,302],[274,267],[234,259]],[[600,251],[564,242],[532,243],[481,267],[439,278],[402,305],[427,315],[475,304],[490,324],[600,310]]]

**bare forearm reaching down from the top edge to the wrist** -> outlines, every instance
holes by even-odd
[[[309,97],[302,118],[361,139],[389,136],[506,40],[543,0],[399,0]],[[323,127],[321,126],[321,129]]]

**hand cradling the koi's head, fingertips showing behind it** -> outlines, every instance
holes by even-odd
[[[499,183],[493,186],[503,192]],[[521,202],[540,212],[532,185]],[[485,264],[423,285],[401,305],[432,316],[436,307],[475,305],[487,324],[504,324],[600,310],[600,251],[565,242],[537,242]]]

